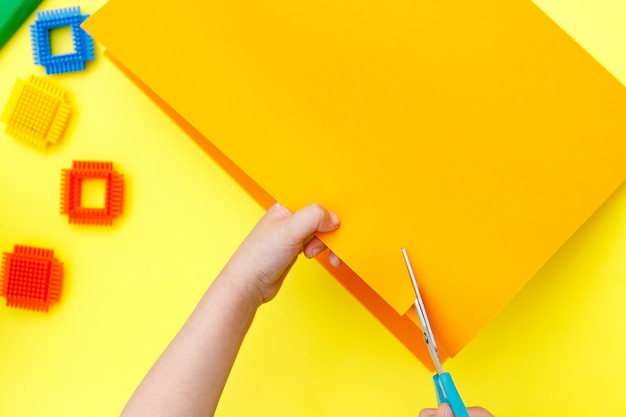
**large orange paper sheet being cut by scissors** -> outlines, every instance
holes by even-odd
[[[336,211],[337,276],[414,352],[401,247],[454,355],[626,179],[626,90],[528,1],[111,0],[84,26],[264,203]]]

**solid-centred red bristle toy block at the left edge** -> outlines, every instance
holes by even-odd
[[[63,264],[50,249],[15,245],[13,253],[3,253],[0,295],[7,306],[48,311],[59,301]]]

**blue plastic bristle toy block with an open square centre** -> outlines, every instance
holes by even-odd
[[[83,71],[85,63],[95,58],[93,39],[80,24],[89,17],[80,14],[80,7],[37,12],[37,19],[30,25],[35,64],[43,65],[46,74]],[[52,54],[50,30],[69,26],[72,31],[74,51],[69,54]]]

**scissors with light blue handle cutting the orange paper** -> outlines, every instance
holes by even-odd
[[[424,307],[424,302],[422,301],[419,288],[417,288],[415,273],[413,273],[411,261],[409,261],[409,255],[407,254],[405,248],[402,248],[402,255],[404,255],[404,262],[406,262],[406,267],[409,270],[411,282],[413,283],[413,289],[415,290],[415,309],[417,310],[417,315],[419,316],[420,324],[422,325],[424,342],[426,342],[428,353],[430,354],[430,358],[433,360],[433,364],[437,370],[437,373],[433,375],[433,382],[435,383],[435,391],[437,393],[437,403],[448,403],[456,417],[469,417],[467,409],[463,404],[463,400],[461,399],[459,392],[456,390],[454,381],[452,381],[452,376],[450,376],[448,372],[444,372],[441,367],[437,344],[435,343],[435,338],[433,337],[433,332],[430,328],[430,322],[428,321],[428,316],[426,315],[426,308]]]

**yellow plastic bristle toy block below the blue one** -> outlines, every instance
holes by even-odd
[[[69,120],[67,92],[43,78],[18,79],[2,113],[6,132],[15,139],[44,148],[57,143]]]

